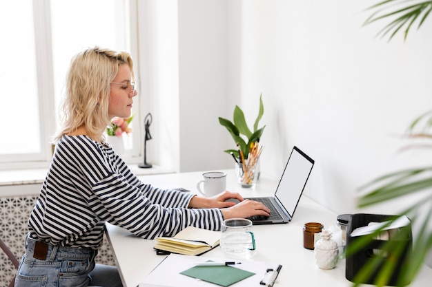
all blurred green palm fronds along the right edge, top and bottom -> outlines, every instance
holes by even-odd
[[[411,3],[411,1],[404,0],[386,0],[380,1],[379,3],[371,6],[369,10],[375,10],[371,17],[369,17],[365,25],[375,23],[382,19],[390,19],[391,22],[384,26],[378,35],[386,36],[389,35],[389,41],[393,39],[393,36],[398,32],[404,33],[404,40],[406,40],[411,26],[418,21],[418,28],[424,23],[426,18],[432,11],[432,1],[418,1]],[[407,136],[415,139],[432,139],[432,111],[428,111],[422,116],[416,118],[408,128]],[[431,147],[430,145],[412,145],[413,147]],[[426,259],[429,252],[432,251],[432,233],[429,228],[429,219],[432,217],[432,195],[431,193],[425,192],[427,189],[432,187],[432,167],[419,167],[413,169],[406,169],[397,171],[395,173],[389,173],[384,176],[380,176],[375,180],[372,180],[364,187],[361,187],[363,191],[366,191],[366,195],[363,195],[357,203],[359,207],[370,206],[382,202],[387,202],[395,198],[402,198],[406,195],[420,194],[424,195],[418,202],[412,204],[404,211],[395,217],[402,215],[409,215],[412,224],[417,224],[419,229],[416,236],[413,238],[411,248],[412,254],[410,257],[409,264],[406,268],[400,270],[399,279],[400,281],[412,281],[418,275],[422,264]],[[393,220],[394,221],[394,220]],[[391,224],[391,222],[389,222]],[[375,231],[369,237],[365,237],[364,240],[357,242],[355,246],[349,246],[347,248],[347,256],[355,253],[360,248],[363,248],[373,237],[380,233],[380,229]],[[393,252],[392,254],[397,257],[398,251],[404,249],[406,241],[395,240],[395,242],[389,242],[384,244],[382,250],[384,252]],[[356,278],[358,282],[367,279],[374,270],[377,271],[376,286],[384,286],[386,282],[389,282],[391,275],[394,273],[395,264],[391,261],[386,264],[380,264],[381,258],[374,257],[362,268],[360,274]],[[394,261],[394,260],[393,260]],[[380,268],[377,268],[380,266]],[[358,285],[357,283],[355,284]]]

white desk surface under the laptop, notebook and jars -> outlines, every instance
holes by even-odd
[[[262,174],[255,189],[242,189],[235,182],[234,171],[227,170],[226,173],[227,189],[239,192],[244,197],[272,195],[277,187],[276,179]],[[157,187],[184,187],[196,191],[196,182],[202,178],[201,175],[202,172],[172,173],[146,176],[143,181]],[[304,223],[335,225],[336,216],[303,195],[291,223],[253,227],[257,251],[252,260],[282,264],[283,268],[275,286],[351,286],[351,281],[345,279],[345,260],[340,260],[332,270],[322,270],[315,264],[313,251],[303,248]],[[124,287],[136,287],[165,257],[156,255],[153,251],[154,240],[144,240],[111,224],[106,224],[106,229]],[[220,247],[209,251],[205,256],[226,257]],[[424,266],[410,286],[429,286],[432,281],[431,271],[431,268]]]

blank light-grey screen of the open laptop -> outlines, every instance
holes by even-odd
[[[311,174],[314,160],[309,158],[297,147],[291,151],[284,173],[277,186],[275,197],[293,217],[295,208],[300,201],[309,174]]]

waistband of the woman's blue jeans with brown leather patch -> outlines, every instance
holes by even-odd
[[[97,251],[92,248],[73,248],[66,246],[53,246],[29,235],[26,237],[26,252],[36,259],[57,261],[63,259],[94,259]],[[42,255],[42,258],[40,257]],[[43,258],[45,257],[45,258]]]

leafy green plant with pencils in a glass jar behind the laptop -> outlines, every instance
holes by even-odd
[[[235,106],[233,122],[226,118],[219,117],[219,123],[226,127],[233,137],[237,149],[226,149],[236,162],[236,174],[239,184],[242,187],[253,187],[259,177],[259,171],[255,176],[255,169],[262,152],[262,146],[259,146],[259,139],[264,132],[264,127],[258,128],[259,120],[264,114],[264,105],[262,103],[262,94],[259,96],[258,116],[253,125],[253,130],[249,129],[244,113],[238,105]]]

